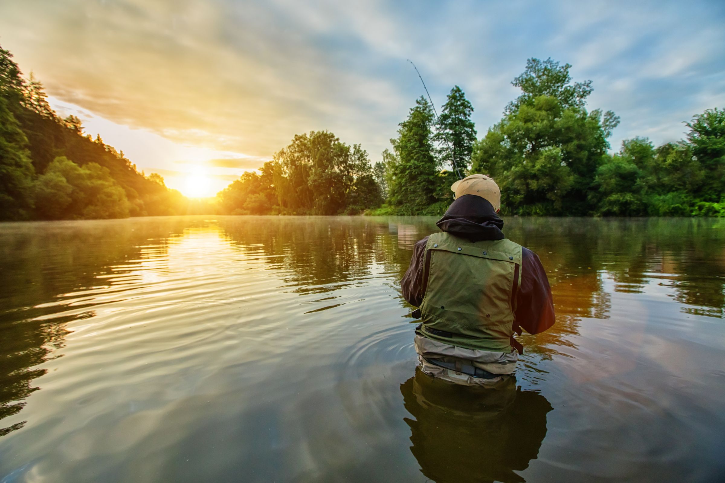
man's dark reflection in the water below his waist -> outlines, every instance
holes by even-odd
[[[525,482],[514,471],[537,458],[552,407],[543,395],[516,388],[514,377],[495,388],[453,385],[415,368],[400,385],[415,419],[410,441],[421,471],[437,483]]]

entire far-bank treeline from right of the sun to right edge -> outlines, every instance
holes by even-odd
[[[695,115],[678,143],[634,138],[609,154],[619,118],[587,110],[592,81],[572,82],[570,68],[529,59],[512,82],[521,95],[480,139],[458,86],[437,119],[421,96],[374,167],[331,133],[296,136],[260,174],[219,193],[222,211],[438,215],[459,175],[484,173],[508,215],[725,216],[724,111]]]

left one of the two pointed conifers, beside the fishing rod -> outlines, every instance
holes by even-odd
[[[439,162],[431,133],[433,122],[433,109],[421,96],[399,124],[398,137],[390,140],[396,163],[391,166],[389,199],[410,214],[436,202]]]

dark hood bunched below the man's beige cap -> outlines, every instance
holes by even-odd
[[[503,240],[503,220],[488,200],[476,195],[457,198],[436,222],[444,232],[470,240]]]

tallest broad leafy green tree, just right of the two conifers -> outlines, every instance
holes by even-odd
[[[473,148],[472,172],[492,175],[505,211],[585,215],[590,190],[618,124],[613,112],[587,112],[591,83],[570,85],[569,64],[529,59],[513,84],[523,94]]]

